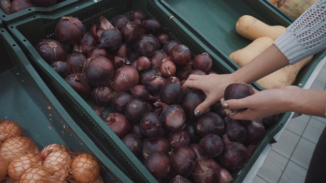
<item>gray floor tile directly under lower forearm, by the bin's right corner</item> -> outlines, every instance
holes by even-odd
[[[297,134],[302,135],[305,131],[306,126],[308,125],[310,115],[301,115],[290,120],[286,129]]]

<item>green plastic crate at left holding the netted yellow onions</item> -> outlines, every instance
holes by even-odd
[[[0,28],[0,43],[0,119],[18,123],[40,150],[59,143],[95,155],[105,182],[131,182],[78,127],[5,28]]]

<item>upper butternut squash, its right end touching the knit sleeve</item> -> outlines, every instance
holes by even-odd
[[[235,31],[244,38],[254,41],[260,37],[276,40],[286,30],[282,25],[268,25],[250,15],[241,16],[236,22]]]

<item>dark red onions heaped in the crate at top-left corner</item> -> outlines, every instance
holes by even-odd
[[[50,7],[67,0],[1,0],[0,7],[10,15],[31,7]]]

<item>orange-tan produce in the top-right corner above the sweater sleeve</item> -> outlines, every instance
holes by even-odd
[[[269,0],[270,3],[274,4],[281,11],[287,14],[292,19],[297,19],[303,14],[309,7],[315,4],[318,0]]]

